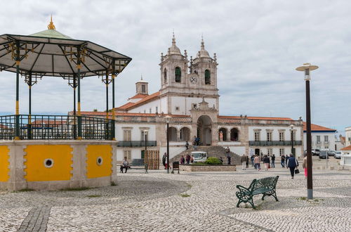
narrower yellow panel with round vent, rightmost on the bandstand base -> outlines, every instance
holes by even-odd
[[[98,165],[98,157],[102,157],[102,165]],[[112,146],[88,145],[86,148],[86,178],[111,176]]]

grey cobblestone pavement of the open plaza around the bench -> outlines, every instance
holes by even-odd
[[[278,166],[278,165],[277,165]],[[350,231],[351,172],[314,170],[314,200],[303,174],[131,170],[117,186],[84,191],[1,192],[0,231]],[[279,202],[236,207],[236,185],[279,175]]]

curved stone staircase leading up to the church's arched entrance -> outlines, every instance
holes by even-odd
[[[174,156],[171,158],[169,161],[172,163],[173,161],[179,161],[180,157],[184,155],[184,157],[187,155],[187,153],[192,153],[192,151],[195,151],[193,148],[189,148],[188,150],[184,150],[183,152],[179,153],[178,155]],[[227,157],[225,154],[225,148],[222,146],[198,146],[196,151],[206,151],[208,154],[208,157],[222,157],[224,163],[227,163]],[[232,157],[232,165],[241,165],[240,162],[240,155],[237,155],[235,153],[230,152],[230,157]]]

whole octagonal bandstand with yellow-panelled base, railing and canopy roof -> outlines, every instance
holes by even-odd
[[[117,181],[114,110],[115,79],[131,58],[91,41],[55,30],[0,35],[0,71],[15,72],[15,115],[0,116],[0,190],[58,190],[109,186]],[[81,79],[101,77],[106,117],[81,116]],[[19,82],[28,85],[29,112],[20,114]],[[32,86],[60,77],[72,87],[72,114],[32,115]],[[45,100],[43,100],[45,101]],[[76,104],[77,103],[77,104]],[[77,109],[76,109],[77,105]]]

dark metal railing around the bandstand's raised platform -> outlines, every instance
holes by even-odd
[[[19,121],[21,140],[79,139],[79,134],[84,140],[114,138],[114,120],[105,118],[74,115],[5,115],[0,116],[0,140],[15,139],[16,117]]]

